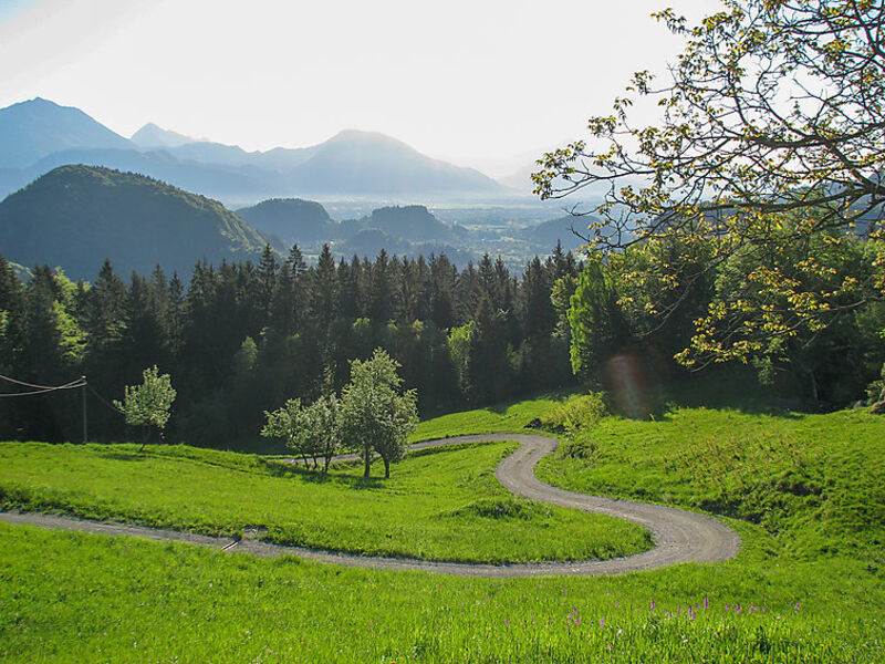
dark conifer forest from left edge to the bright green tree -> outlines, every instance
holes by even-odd
[[[110,442],[135,435],[112,401],[157,365],[178,392],[168,439],[256,449],[264,411],[340,390],[375,347],[402,364],[421,414],[572,384],[566,309],[581,268],[560,247],[514,276],[489,256],[462,270],[385,251],[336,263],[327,246],[308,266],[293,246],[285,260],[268,248],[258,264],[200,262],[189,282],[162,266],[125,278],[105,261],[86,283],[48,266],[21,280],[0,257],[0,374],[85,375],[88,438]],[[80,440],[83,392],[0,400],[0,437]]]

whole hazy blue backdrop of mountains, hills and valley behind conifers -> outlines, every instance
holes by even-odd
[[[581,246],[580,219],[381,134],[250,153],[154,124],[126,138],[38,97],[0,110],[0,143],[3,253],[72,278],[105,258],[124,274],[159,263],[184,276],[198,260],[257,260],[266,245],[309,260],[324,243],[347,259],[445,253],[461,267],[490,253],[514,269]]]

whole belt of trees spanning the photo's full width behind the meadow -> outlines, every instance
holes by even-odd
[[[835,237],[842,239],[824,257],[830,279],[872,274],[873,242]],[[632,417],[660,406],[657,386],[698,372],[717,372],[725,383],[736,367],[806,409],[881,398],[882,302],[834,301],[825,325],[791,320],[790,335],[757,343],[743,362],[711,360],[698,352],[699,325],[722,293],[743,283],[742,315],[750,317],[753,307],[771,307],[771,294],[754,290],[740,260],[719,264],[704,251],[679,258],[678,292],[631,277],[660,262],[660,251],[637,247],[608,260],[576,260],[556,246],[512,274],[488,255],[459,270],[445,255],[412,259],[384,250],[336,262],[329,246],[309,266],[295,245],[284,260],[268,247],[258,264],[199,262],[188,282],[160,266],[126,280],[105,261],[91,283],[48,266],[22,280],[0,257],[0,375],[33,386],[81,375],[87,382],[24,398],[7,395],[33,387],[6,385],[0,436],[81,440],[85,396],[88,439],[139,437],[112,402],[156,365],[178,393],[167,439],[271,450],[258,435],[266,411],[340,391],[351,361],[376,347],[399,362],[425,417],[577,384],[606,388],[616,402],[613,357],[627,362],[615,373],[626,370],[645,384],[642,403],[613,404]],[[778,269],[800,290],[814,287],[820,270],[809,272],[800,260],[811,249],[784,251]],[[740,320],[732,325],[750,329]]]

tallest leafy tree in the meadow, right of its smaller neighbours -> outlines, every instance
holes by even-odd
[[[417,393],[400,392],[398,369],[398,362],[375,349],[371,359],[351,363],[351,382],[341,393],[343,437],[363,458],[364,477],[373,452],[384,460],[384,477],[391,477],[391,464],[403,458],[418,424]]]

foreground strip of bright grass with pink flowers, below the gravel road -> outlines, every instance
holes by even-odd
[[[856,566],[783,564],[760,529],[741,535],[739,559],[716,567],[491,581],[0,525],[0,660],[883,660],[881,584]]]

